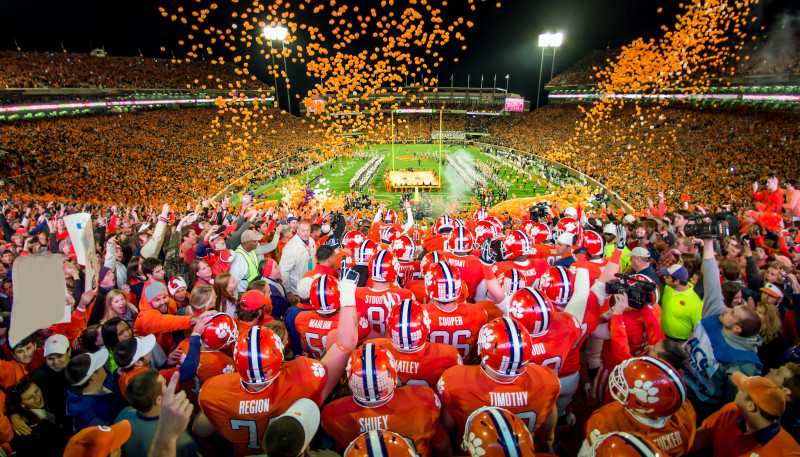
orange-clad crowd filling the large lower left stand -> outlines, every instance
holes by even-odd
[[[233,149],[227,136],[209,134],[219,116],[213,108],[4,123],[0,149],[8,155],[0,174],[20,194],[185,204],[248,173],[267,181],[314,161],[313,154],[298,153],[312,150],[319,138],[306,133],[298,118],[275,108],[264,110],[281,128],[254,139],[247,150]],[[232,115],[225,116],[230,122]],[[283,158],[289,163],[273,163]],[[176,194],[174,188],[183,191]]]

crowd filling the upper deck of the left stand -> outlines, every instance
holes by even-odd
[[[61,52],[0,51],[0,81],[5,88],[108,87],[258,89],[234,66],[210,61],[175,63],[145,57],[95,57]],[[209,78],[209,75],[214,75]],[[219,82],[216,81],[219,79]],[[220,85],[221,87],[218,87]]]

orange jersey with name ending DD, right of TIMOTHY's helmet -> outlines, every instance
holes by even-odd
[[[550,328],[542,336],[531,338],[531,362],[550,368],[559,375],[572,346],[581,337],[581,324],[575,316],[556,311]]]

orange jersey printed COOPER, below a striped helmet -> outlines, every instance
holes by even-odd
[[[480,305],[474,303],[458,303],[453,311],[442,311],[429,303],[423,305],[431,316],[431,334],[428,341],[449,344],[458,349],[464,360],[470,360],[475,349],[478,333],[486,324],[488,317]]]

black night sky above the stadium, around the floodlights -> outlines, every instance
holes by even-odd
[[[377,1],[350,0],[346,3],[373,6]],[[619,47],[640,36],[660,36],[660,26],[671,26],[678,11],[676,1],[501,0],[501,8],[496,8],[495,2],[477,2],[478,10],[470,12],[466,1],[450,0],[450,9],[456,4],[465,5],[463,16],[475,26],[462,29],[467,36],[466,51],[461,50],[459,42],[451,43],[453,46],[448,45],[449,49],[443,52],[450,58],[434,70],[439,73],[442,86],[450,84],[450,74],[454,75],[456,86],[466,86],[468,74],[472,86],[480,84],[481,74],[484,86],[491,86],[496,74],[498,87],[504,88],[505,75],[510,74],[509,90],[535,103],[541,60],[541,50],[536,45],[539,33],[559,31],[565,34],[564,44],[555,58],[554,73],[558,74],[594,49]],[[219,3],[222,6],[226,2],[219,0]],[[316,3],[315,0],[312,5]],[[765,25],[769,30],[778,15],[796,14],[797,3],[800,2],[762,1],[755,8],[759,16],[757,25]],[[104,46],[112,56],[138,55],[141,50],[148,57],[169,57],[170,50],[175,49],[176,56],[180,57],[182,53],[177,52],[176,42],[185,38],[185,26],[162,18],[158,7],[174,10],[181,4],[191,9],[195,2],[2,0],[0,49],[14,49],[16,40],[24,51],[59,52],[63,43],[69,52],[89,52]],[[657,13],[659,7],[663,7],[660,14]],[[327,14],[312,17],[328,18]],[[168,51],[161,52],[161,46]],[[456,56],[458,63],[452,61]],[[543,83],[549,77],[551,62],[551,57],[545,59]],[[294,93],[299,90],[301,97],[304,96],[309,82],[302,64],[290,64],[289,72],[295,82],[292,98],[296,107]],[[266,82],[271,84],[272,78],[267,78]]]

